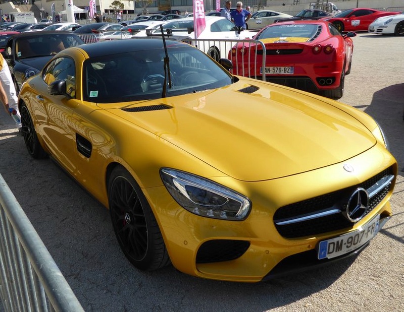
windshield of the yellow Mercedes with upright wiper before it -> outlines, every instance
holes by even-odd
[[[198,49],[169,47],[168,55],[171,87],[167,77],[167,97],[232,83],[232,76]],[[115,103],[161,98],[165,81],[164,56],[163,49],[155,49],[87,59],[83,67],[84,100]],[[119,81],[113,75],[117,72],[122,77]]]

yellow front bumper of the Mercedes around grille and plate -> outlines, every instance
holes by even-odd
[[[342,165],[346,162],[356,170],[344,171]],[[357,188],[383,170],[391,170],[394,176],[397,172],[394,158],[379,144],[346,162],[269,181],[242,182],[227,177],[212,178],[251,200],[251,212],[244,221],[196,216],[179,207],[164,186],[144,192],[159,222],[175,268],[203,278],[259,282],[281,272],[321,266],[355,254],[366,244],[332,260],[318,260],[316,247],[322,240],[361,228],[377,214],[381,220],[391,217],[388,200],[395,179],[383,198],[355,224],[339,229],[330,228],[321,233],[307,233],[306,236],[284,237],[280,234],[274,222],[280,207],[342,189]],[[214,248],[209,245],[211,242]]]

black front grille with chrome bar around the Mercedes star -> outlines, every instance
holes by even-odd
[[[368,191],[367,215],[387,196],[393,177],[390,167],[358,185],[281,207],[274,215],[276,229],[283,237],[297,238],[350,228],[354,224],[343,216],[342,211],[351,194],[357,188]],[[380,185],[383,187],[379,188]]]

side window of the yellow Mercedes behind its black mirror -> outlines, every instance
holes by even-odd
[[[66,82],[66,93],[71,97],[76,96],[76,73],[73,59],[69,57],[58,57],[48,64],[43,72],[42,79],[50,85],[56,80]]]

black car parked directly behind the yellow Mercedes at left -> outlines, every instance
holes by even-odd
[[[17,93],[29,77],[40,72],[56,53],[84,42],[71,32],[25,32],[10,37],[2,52],[9,65]]]

